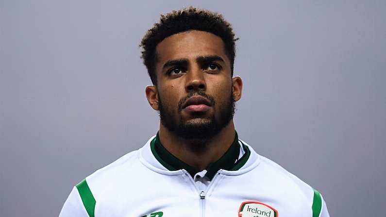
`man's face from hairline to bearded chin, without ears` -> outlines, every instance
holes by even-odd
[[[201,31],[178,33],[161,41],[156,52],[161,124],[186,139],[218,134],[235,110],[222,39]]]

